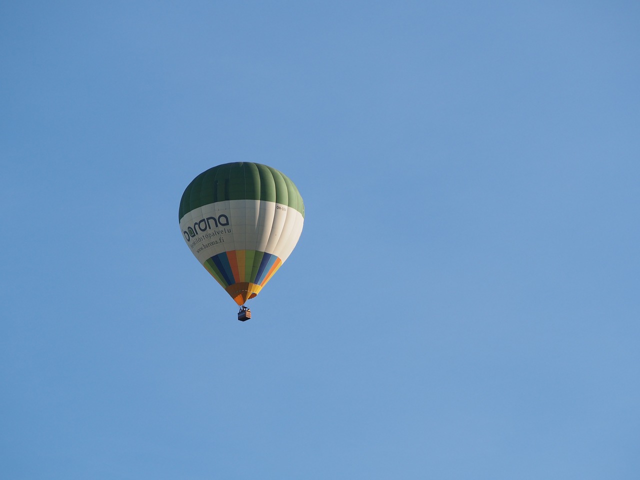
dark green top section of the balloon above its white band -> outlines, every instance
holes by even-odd
[[[234,162],[200,173],[184,190],[178,220],[202,205],[224,200],[266,200],[287,205],[305,216],[298,188],[282,172],[253,162]]]

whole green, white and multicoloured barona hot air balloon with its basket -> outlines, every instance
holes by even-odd
[[[200,173],[182,194],[180,231],[191,253],[238,305],[260,293],[298,243],[305,205],[275,168],[225,163]]]

